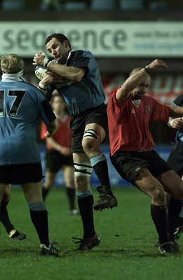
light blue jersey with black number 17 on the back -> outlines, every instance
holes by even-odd
[[[42,92],[25,81],[0,82],[0,165],[40,162],[36,125],[55,115]]]

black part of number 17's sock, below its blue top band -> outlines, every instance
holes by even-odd
[[[39,236],[41,244],[45,244],[46,247],[49,246],[50,241],[48,238],[48,212],[43,211],[32,211],[30,210],[30,216],[32,223],[36,229],[36,232]]]

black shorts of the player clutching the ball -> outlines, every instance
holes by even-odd
[[[101,104],[100,106],[89,109],[78,116],[74,116],[71,120],[72,153],[83,153],[81,142],[85,132],[85,127],[89,123],[97,123],[97,125],[103,127],[106,134],[108,134],[107,106],[105,104]]]

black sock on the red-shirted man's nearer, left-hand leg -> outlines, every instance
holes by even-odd
[[[151,204],[151,217],[158,232],[159,242],[168,242],[166,206]]]

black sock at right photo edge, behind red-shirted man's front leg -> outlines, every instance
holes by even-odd
[[[177,222],[179,219],[179,214],[182,210],[182,200],[175,200],[175,198],[170,197],[168,203],[168,232],[172,235],[177,228]]]

